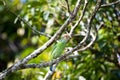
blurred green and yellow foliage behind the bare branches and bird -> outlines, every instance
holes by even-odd
[[[67,19],[68,12],[65,0],[6,0],[9,10],[24,18],[38,31],[53,35]],[[74,9],[77,0],[68,0],[70,10]],[[83,0],[84,1],[84,0]],[[116,0],[103,0],[102,4]],[[84,3],[84,2],[82,2]],[[86,25],[95,7],[96,0],[89,0],[85,16],[76,28],[79,34]],[[82,11],[82,6],[77,16]],[[118,64],[116,51],[120,53],[120,4],[100,8],[93,20],[93,26],[99,29],[98,38],[94,45],[83,52],[80,57],[61,62],[54,74],[62,80],[119,80],[120,64]],[[0,1],[0,71],[10,66],[10,62],[23,59],[36,48],[42,46],[48,38],[36,35],[22,21],[16,20]],[[78,17],[77,17],[78,18]],[[74,22],[73,22],[74,24]],[[63,31],[70,30],[70,25]],[[68,46],[74,47],[82,37],[74,37]],[[53,45],[52,45],[53,46]],[[29,63],[49,61],[51,47]],[[6,80],[42,80],[49,68],[23,69],[6,77]]]

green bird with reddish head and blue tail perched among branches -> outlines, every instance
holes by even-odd
[[[57,42],[57,44],[53,47],[53,50],[51,52],[51,56],[50,56],[50,59],[53,60],[53,59],[56,59],[57,57],[59,57],[64,49],[65,49],[65,46],[67,44],[67,41],[70,39],[70,36],[69,34],[64,34],[63,37]],[[52,71],[52,67],[53,65],[50,66],[50,70]]]

